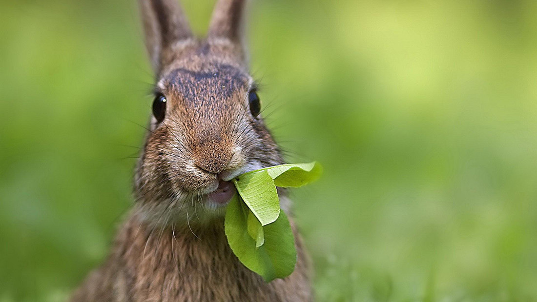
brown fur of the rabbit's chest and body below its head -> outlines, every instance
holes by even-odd
[[[105,265],[92,272],[72,301],[308,301],[305,255],[293,274],[265,283],[233,255],[214,226],[152,231],[137,217],[120,230]],[[296,232],[295,232],[296,234]]]

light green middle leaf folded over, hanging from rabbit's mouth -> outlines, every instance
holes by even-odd
[[[274,180],[267,171],[242,174],[233,180],[244,203],[262,226],[273,223],[280,215],[280,202]]]

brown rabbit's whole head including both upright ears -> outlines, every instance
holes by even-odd
[[[156,224],[221,217],[235,176],[282,163],[248,72],[245,0],[219,0],[206,38],[176,0],[140,0],[155,99],[135,174],[141,215]]]

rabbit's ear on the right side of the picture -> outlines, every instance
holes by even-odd
[[[247,0],[218,0],[209,25],[209,39],[227,39],[242,46],[246,2]]]

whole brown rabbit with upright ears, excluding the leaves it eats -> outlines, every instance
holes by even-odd
[[[245,0],[219,0],[206,39],[176,0],[140,0],[156,73],[153,117],[135,175],[136,203],[107,260],[71,301],[308,301],[307,255],[266,283],[228,246],[229,180],[284,163],[259,115],[241,35]],[[285,191],[279,191],[288,212]]]

